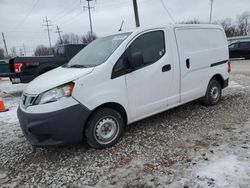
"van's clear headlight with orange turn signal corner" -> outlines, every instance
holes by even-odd
[[[46,91],[38,97],[36,104],[46,104],[70,97],[73,89],[74,83],[69,83]]]

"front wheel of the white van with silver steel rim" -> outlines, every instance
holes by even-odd
[[[113,146],[124,132],[121,114],[111,108],[102,108],[90,117],[85,128],[87,143],[96,149]]]

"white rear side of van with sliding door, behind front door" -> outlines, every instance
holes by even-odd
[[[228,78],[228,47],[220,28],[176,28],[175,33],[181,66],[181,103],[185,103],[203,97],[215,74]],[[215,63],[219,65],[211,66]]]

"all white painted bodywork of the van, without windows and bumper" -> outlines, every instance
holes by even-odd
[[[111,79],[113,67],[127,47],[138,36],[158,30],[165,34],[165,55],[151,65]],[[186,67],[187,58],[190,59],[190,69]],[[39,95],[73,81],[72,105],[80,103],[93,111],[103,104],[117,103],[126,111],[129,124],[203,97],[214,75],[219,74],[224,80],[229,77],[226,63],[214,67],[211,64],[228,59],[227,41],[219,26],[169,25],[136,29],[105,63],[95,68],[54,69],[32,81],[25,93]],[[171,65],[171,71],[162,72],[166,64]],[[43,113],[49,111],[45,110],[46,105],[58,104],[52,108],[58,109],[62,102],[22,110]],[[68,102],[66,104],[69,106]]]

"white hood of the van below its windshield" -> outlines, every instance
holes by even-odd
[[[29,95],[39,95],[57,86],[74,81],[79,77],[90,74],[94,68],[64,68],[53,69],[31,81],[24,93]]]

